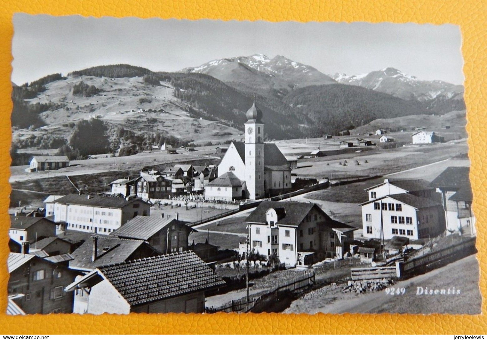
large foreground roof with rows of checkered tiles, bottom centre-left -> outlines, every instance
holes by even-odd
[[[130,305],[147,304],[225,285],[192,251],[98,268]]]

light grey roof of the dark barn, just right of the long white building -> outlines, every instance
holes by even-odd
[[[174,225],[187,227],[186,223],[178,221],[175,218],[165,219],[161,217],[138,215],[120,228],[114,230],[110,235],[147,241],[162,229]]]

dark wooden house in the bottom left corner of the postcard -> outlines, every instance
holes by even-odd
[[[73,293],[64,291],[76,275],[66,261],[11,252],[7,260],[8,295],[25,314],[72,313]]]

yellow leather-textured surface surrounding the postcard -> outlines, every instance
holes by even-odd
[[[44,315],[8,317],[6,308],[10,193],[9,147],[11,140],[10,73],[12,16],[16,12],[56,16],[160,17],[187,19],[238,19],[269,21],[369,21],[452,23],[463,35],[465,99],[468,109],[469,156],[474,211],[477,215],[478,258],[487,264],[487,2],[486,0],[326,0],[326,1],[215,1],[215,0],[2,0],[0,5],[0,334],[85,333],[487,333],[486,305],[483,316],[449,315],[176,315],[128,316]],[[484,84],[484,85],[483,85]],[[486,273],[480,286],[485,296]]]

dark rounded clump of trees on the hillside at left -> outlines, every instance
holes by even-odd
[[[81,120],[73,128],[69,144],[84,157],[106,153],[110,147],[107,126],[96,118]]]

